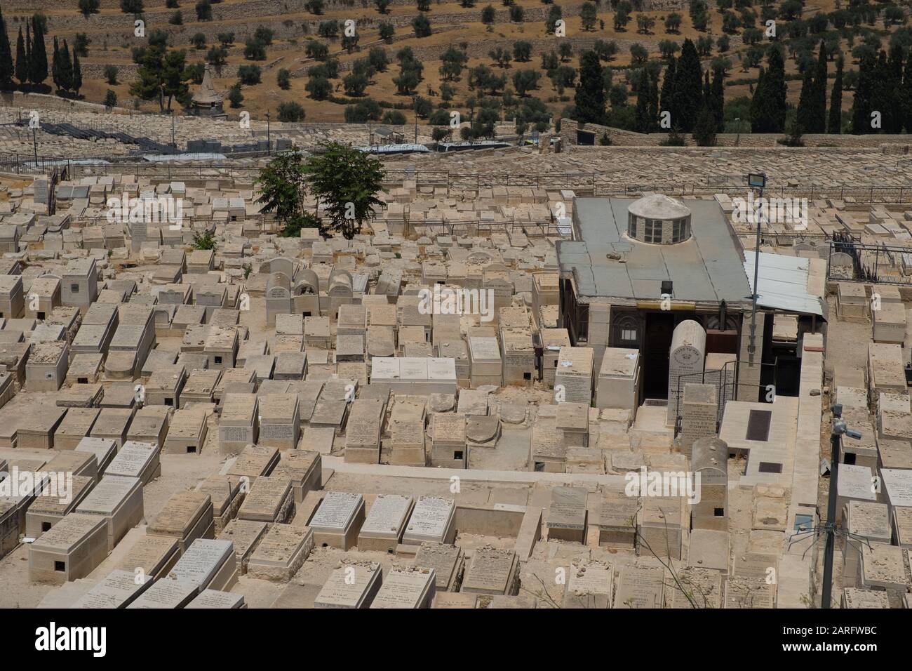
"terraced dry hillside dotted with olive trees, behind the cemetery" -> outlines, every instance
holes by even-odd
[[[119,106],[137,110],[159,110],[159,103],[131,95],[130,84],[140,68],[134,62],[134,51],[146,46],[156,31],[164,31],[169,47],[185,50],[187,64],[197,67],[196,82],[202,78],[202,64],[212,60],[218,63],[216,89],[227,94],[239,83],[239,74],[250,82],[239,86],[243,100],[231,105],[225,102],[225,110],[233,118],[247,110],[254,119],[263,119],[267,111],[275,115],[283,103],[297,103],[306,112],[306,121],[382,119],[410,123],[417,96],[422,121],[440,124],[449,117],[449,110],[471,115],[482,104],[480,99],[486,98],[489,104],[495,101],[501,119],[519,114],[530,127],[536,121],[568,113],[568,106],[574,102],[580,53],[599,40],[599,46],[610,46],[602,65],[611,70],[606,77],[611,84],[609,98],[618,108],[632,108],[635,103],[634,68],[648,60],[660,67],[663,55],[675,53],[686,38],[702,41],[700,57],[705,67],[710,67],[713,58],[728,59],[728,103],[749,97],[762,65],[758,49],[762,53],[771,39],[765,16],[775,16],[777,38],[788,42],[790,103],[797,102],[801,88],[799,62],[821,40],[826,40],[831,54],[837,49],[845,52],[847,73],[857,68],[853,50],[857,52],[862,45],[886,49],[891,38],[906,46],[912,42],[903,26],[907,7],[870,5],[858,26],[849,22],[840,28],[839,0],[803,6],[798,0],[769,6],[751,6],[750,0],[720,0],[718,6],[708,7],[705,26],[693,12],[693,4],[684,0],[633,3],[626,25],[618,18],[625,13],[626,0],[605,0],[599,5],[543,4],[538,0],[504,0],[496,5],[474,0],[222,0],[214,4],[212,0],[145,0],[138,15],[122,11],[122,2],[127,3],[125,8],[135,9],[139,5],[130,3],[140,0],[98,0],[98,12],[88,15],[80,13],[78,0],[12,0],[4,6],[7,32],[15,51],[19,28],[39,12],[47,17],[48,50],[53,37],[61,43],[66,39],[70,45],[88,39],[88,48],[80,59],[80,96],[101,102],[110,90]],[[853,0],[853,5],[857,4]],[[565,28],[562,32],[558,27],[555,35],[549,26],[554,26],[557,12]],[[141,30],[135,27],[137,20],[143,22]],[[387,38],[381,38],[383,26],[391,26],[391,37],[385,34]],[[350,35],[352,29],[354,37]],[[419,37],[428,30],[430,35]],[[893,35],[897,31],[899,37]],[[758,33],[759,43],[748,44],[758,39]],[[403,84],[397,57],[404,48],[410,49],[411,59],[422,69],[419,78]],[[461,67],[451,68],[451,74],[444,76],[440,70],[448,52],[450,56],[455,53],[457,61],[461,59]],[[551,54],[553,58],[549,58]],[[384,61],[388,63],[385,67]],[[484,68],[474,69],[480,66]],[[112,77],[113,68],[116,78]],[[239,73],[239,68],[247,71]],[[313,68],[318,68],[316,73]],[[282,77],[286,74],[282,85],[280,73]],[[358,76],[362,73],[366,74],[363,79]],[[257,74],[259,83],[254,83]],[[832,66],[828,74],[832,84]],[[325,75],[329,76],[323,79]],[[314,86],[315,79],[323,80]],[[846,74],[846,79],[842,106],[849,110],[852,75]],[[366,111],[366,100],[377,103],[369,103],[372,113]],[[440,107],[446,108],[446,113],[434,116],[432,112]],[[729,107],[728,130],[741,130],[733,120],[746,118],[744,101]]]

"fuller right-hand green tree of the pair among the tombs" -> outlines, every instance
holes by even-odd
[[[383,206],[377,197],[383,167],[370,154],[339,142],[324,143],[321,150],[307,158],[304,173],[311,193],[324,205],[330,228],[350,240],[374,217],[375,208]]]

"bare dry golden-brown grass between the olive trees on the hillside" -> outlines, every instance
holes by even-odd
[[[102,0],[101,14],[92,16],[86,21],[80,19],[75,22],[74,19],[78,18],[78,11],[76,9],[77,0],[66,0],[65,3],[48,3],[47,0],[43,0],[43,2],[47,4],[47,7],[41,8],[41,10],[44,11],[50,20],[50,32],[52,35],[67,37],[68,40],[72,41],[76,32],[86,32],[88,37],[91,38],[92,44],[89,47],[88,58],[83,59],[85,65],[94,64],[99,66],[96,68],[98,72],[102,69],[100,66],[107,64],[130,67],[130,48],[135,46],[138,42],[141,42],[141,40],[130,35],[130,17],[120,13],[116,0]],[[266,60],[257,63],[257,65],[260,65],[260,67],[264,69],[262,83],[252,87],[244,87],[244,104],[241,109],[249,110],[254,118],[262,117],[266,110],[275,110],[275,107],[283,101],[295,100],[304,105],[308,121],[343,121],[344,107],[342,105],[326,101],[317,102],[306,97],[306,77],[292,79],[292,86],[289,90],[279,89],[275,84],[275,75],[279,68],[287,68],[292,72],[295,72],[302,70],[302,68],[306,68],[311,64],[310,61],[307,61],[304,54],[304,44],[308,36],[306,36],[301,29],[302,24],[306,22],[314,23],[327,19],[345,20],[347,18],[354,18],[358,20],[359,23],[364,24],[364,26],[358,28],[360,43],[364,48],[360,52],[351,55],[345,53],[339,54],[338,58],[343,63],[366,55],[368,51],[367,45],[378,39],[376,27],[378,21],[392,20],[397,24],[402,24],[397,27],[396,42],[385,48],[387,48],[389,52],[390,60],[395,57],[395,53],[402,47],[412,47],[420,54],[422,62],[424,63],[425,80],[420,85],[419,92],[424,96],[429,95],[429,89],[434,91],[440,90],[440,76],[438,74],[440,60],[437,56],[440,51],[446,47],[451,45],[459,46],[461,43],[467,43],[473,51],[477,51],[481,48],[481,53],[477,54],[478,58],[472,58],[470,60],[469,65],[472,67],[480,63],[492,65],[490,58],[487,58],[486,56],[487,51],[492,47],[501,45],[503,47],[512,47],[513,42],[519,39],[532,41],[535,45],[532,61],[524,64],[513,63],[512,67],[506,70],[508,76],[511,76],[513,71],[517,68],[538,69],[540,66],[538,52],[548,45],[549,42],[554,42],[554,49],[556,49],[561,41],[560,38],[547,36],[545,34],[544,20],[526,21],[523,24],[511,24],[506,21],[498,21],[492,26],[493,29],[489,31],[487,26],[484,26],[481,23],[482,7],[487,5],[485,2],[479,2],[472,8],[463,8],[455,0],[433,2],[429,13],[431,26],[435,28],[442,27],[441,21],[436,20],[435,16],[452,17],[455,15],[458,20],[447,21],[447,29],[425,38],[417,38],[411,35],[411,28],[408,24],[411,17],[417,15],[417,9],[414,3],[397,3],[390,5],[389,14],[380,16],[372,2],[364,3],[368,6],[362,6],[361,2],[357,2],[351,7],[346,7],[341,3],[330,1],[326,2],[326,10],[323,15],[313,16],[305,11],[300,11],[302,5],[301,0],[265,4],[254,3],[253,5],[247,3],[245,0],[223,0],[220,4],[212,5],[216,20],[202,23],[195,21],[196,15],[193,9],[195,2],[192,0],[181,0],[180,4],[184,25],[171,26],[167,23],[167,17],[171,16],[171,14],[177,10],[166,9],[164,0],[147,0],[147,31],[163,28],[171,32],[172,44],[175,47],[187,48],[190,62],[202,61],[205,58],[206,49],[197,51],[190,47],[189,44],[191,37],[201,30],[212,35],[218,32],[234,32],[239,36],[235,45],[230,49],[228,58],[230,66],[249,62],[244,59],[243,39],[240,38],[240,36],[252,33],[256,26],[269,26],[278,31],[284,30],[285,34],[294,36],[277,38],[275,40],[274,45],[269,47],[267,51]],[[545,11],[547,9],[537,0],[519,0],[517,4],[523,6],[527,15],[535,11],[541,11],[543,7]],[[564,7],[565,16],[567,17],[567,39],[569,39],[571,43],[578,42],[579,40],[587,40],[585,44],[588,44],[588,40],[596,37],[617,40],[619,47],[621,47],[621,53],[615,61],[618,65],[629,63],[628,48],[633,42],[640,42],[644,46],[649,47],[652,54],[658,56],[658,42],[660,40],[668,38],[682,41],[685,37],[695,38],[700,35],[700,33],[695,31],[690,24],[686,4],[683,9],[678,10],[683,16],[683,25],[679,35],[668,35],[664,31],[661,19],[668,14],[667,11],[648,12],[650,16],[653,16],[657,20],[656,27],[650,35],[637,34],[635,18],[628,24],[626,31],[615,31],[612,26],[613,13],[607,11],[607,3],[603,3],[603,7],[598,13],[599,18],[605,21],[605,29],[601,30],[596,26],[595,31],[586,32],[582,30],[578,16],[575,16],[578,14],[578,7],[581,3],[573,0],[572,2],[559,4]],[[16,19],[21,16],[27,16],[35,11],[35,5],[26,3],[26,0],[14,0],[12,3],[5,3],[5,5],[7,5],[5,6],[5,16],[10,19],[10,29],[13,33],[12,37],[15,39],[15,33],[17,26],[19,25],[16,23]],[[254,16],[233,17],[227,20],[220,18],[220,16],[243,15],[247,5],[251,5],[254,8],[268,5],[267,12],[260,15],[254,14]],[[499,2],[492,3],[492,5],[499,14],[505,11],[505,8]],[[814,5],[808,5],[805,8],[805,16],[810,16],[816,11],[832,11],[834,5],[835,0],[817,0],[814,2]],[[709,33],[713,37],[719,37],[721,35],[720,14],[713,10],[710,13],[710,16],[711,24]],[[55,24],[61,26],[61,28],[57,29]],[[124,26],[127,27],[125,28]],[[293,26],[290,31],[288,26]],[[130,35],[130,37],[126,37],[127,35]],[[214,40],[210,40],[211,43],[212,41]],[[49,44],[50,39],[48,39],[48,45]],[[329,41],[329,46],[331,52],[337,52],[340,49],[339,41],[337,39]],[[733,49],[740,48],[740,39],[737,37],[732,39],[732,47]],[[843,48],[846,51],[848,50],[845,43]],[[568,62],[568,65],[574,67],[578,66],[577,52],[578,48],[575,48],[574,58]],[[755,68],[752,68],[749,72],[744,72],[741,69],[741,64],[737,55],[730,53],[729,56],[733,63],[731,69],[732,78],[741,79],[756,77],[757,70]],[[795,69],[791,61],[787,63],[786,68],[789,72],[793,72]],[[225,68],[223,72],[225,77],[216,79],[217,88],[225,89],[234,83],[233,69],[233,67]],[[392,78],[397,72],[398,67],[394,66],[387,72],[378,74],[372,84],[368,87],[367,95],[375,100],[408,102],[408,99],[396,95]],[[121,105],[130,103],[129,79],[126,77],[121,78],[122,81],[113,87],[100,79],[100,77],[96,79],[85,79],[82,93],[86,100],[100,101],[103,99],[105,92],[108,89],[114,89],[118,94]],[[458,90],[456,98],[456,108],[458,109],[461,106],[461,103],[472,95],[472,92],[468,89],[467,78],[465,76],[463,76],[461,80],[454,82],[454,85]],[[789,82],[789,100],[797,101],[800,85],[800,81]],[[337,95],[343,95],[341,86],[339,86]],[[573,91],[566,92],[565,100],[560,100],[557,96],[557,92],[551,85],[551,82],[547,79],[542,79],[540,89],[535,92],[535,95],[541,100],[544,100],[549,109],[559,111],[572,100]],[[726,89],[726,96],[728,99],[740,95],[750,95],[748,86],[736,86]],[[851,94],[844,95],[843,101],[845,110],[848,110],[851,107],[851,99]],[[434,99],[432,98],[432,100]],[[141,105],[141,109],[147,110],[155,110],[156,107],[157,106],[154,103],[142,103]],[[236,112],[239,110],[229,111]],[[409,110],[404,110],[404,113],[409,120],[412,119]]]

